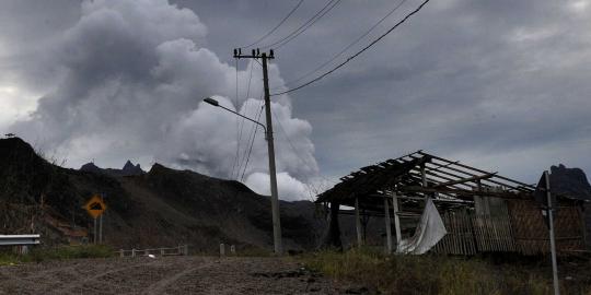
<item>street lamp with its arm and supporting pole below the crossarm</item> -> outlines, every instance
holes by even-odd
[[[270,191],[271,191],[271,216],[273,216],[273,240],[274,240],[274,247],[275,247],[275,253],[276,255],[282,255],[283,253],[283,246],[281,241],[281,219],[279,215],[279,197],[277,193],[277,172],[275,168],[275,148],[273,142],[273,123],[271,123],[271,113],[270,113],[270,99],[269,99],[269,88],[268,88],[268,79],[267,79],[267,72],[266,72],[266,60],[263,60],[263,64],[265,66],[264,69],[264,76],[265,76],[265,109],[266,109],[266,117],[267,117],[267,126],[264,126],[259,121],[253,120],[246,116],[242,116],[241,114],[229,109],[224,106],[221,106],[218,101],[207,97],[204,99],[204,102],[215,106],[223,108],[234,115],[237,115],[248,121],[252,121],[254,123],[259,125],[263,127],[263,130],[265,130],[265,139],[267,140],[267,149],[268,149],[268,155],[269,155],[269,182],[270,182]]]

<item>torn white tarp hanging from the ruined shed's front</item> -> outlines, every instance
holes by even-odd
[[[431,198],[427,199],[425,211],[420,216],[420,222],[415,231],[415,235],[410,238],[401,240],[398,249],[399,253],[421,255],[433,247],[443,236],[448,234],[445,225],[437,211]]]

